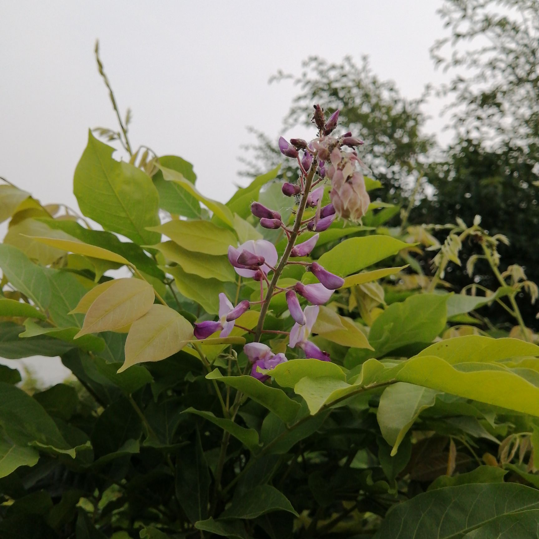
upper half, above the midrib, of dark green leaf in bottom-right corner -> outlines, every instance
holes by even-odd
[[[458,539],[503,515],[537,508],[539,492],[516,483],[439,488],[393,506],[375,538]]]

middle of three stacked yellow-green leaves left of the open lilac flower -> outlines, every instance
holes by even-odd
[[[211,254],[187,251],[176,245],[174,241],[165,241],[153,245],[153,247],[168,260],[179,264],[186,273],[197,275],[203,279],[236,282],[237,274],[225,256],[215,257]]]

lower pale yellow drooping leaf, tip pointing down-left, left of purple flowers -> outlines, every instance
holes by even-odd
[[[164,360],[192,337],[193,327],[181,314],[165,305],[152,305],[129,329],[126,361],[118,372],[136,363]]]

